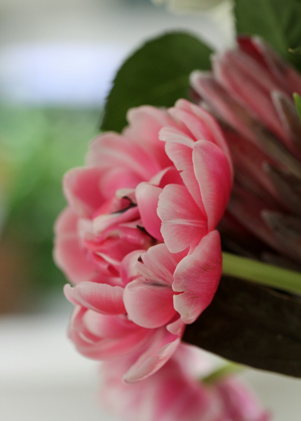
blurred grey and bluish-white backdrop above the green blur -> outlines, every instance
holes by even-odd
[[[113,72],[143,40],[171,29],[225,43],[212,13],[172,16],[150,0],[1,0],[1,97],[101,104]],[[228,39],[229,39],[229,35]]]

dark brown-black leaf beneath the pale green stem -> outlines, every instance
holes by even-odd
[[[228,360],[301,377],[301,299],[224,276],[183,340]]]

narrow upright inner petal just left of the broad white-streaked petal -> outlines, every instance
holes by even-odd
[[[156,240],[163,241],[160,232],[161,220],[157,215],[159,195],[162,192],[160,187],[148,183],[140,183],[136,187],[136,199],[140,217],[145,230]]]

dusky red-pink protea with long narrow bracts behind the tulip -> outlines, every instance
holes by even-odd
[[[220,226],[224,245],[296,268],[301,123],[292,94],[301,94],[301,75],[263,40],[239,37],[237,48],[212,56],[212,72],[194,72],[191,84],[220,120],[234,163],[234,189]]]

